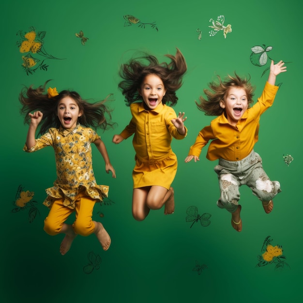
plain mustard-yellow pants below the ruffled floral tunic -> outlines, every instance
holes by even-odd
[[[91,218],[95,202],[96,199],[85,196],[84,192],[79,192],[75,197],[75,209],[64,206],[63,198],[55,200],[44,220],[45,232],[51,236],[59,234],[69,215],[76,212],[76,220],[73,223],[75,233],[81,236],[91,235],[95,229]]]

